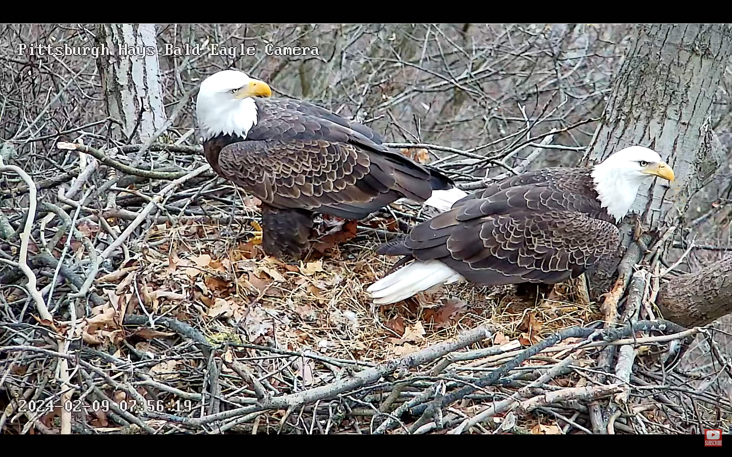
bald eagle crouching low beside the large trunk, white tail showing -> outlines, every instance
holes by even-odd
[[[673,170],[649,148],[631,146],[591,168],[553,167],[512,176],[387,243],[379,254],[414,260],[368,287],[395,303],[451,282],[556,284],[576,278],[619,248],[616,224],[638,188]]]

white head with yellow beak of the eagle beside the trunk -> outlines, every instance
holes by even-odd
[[[592,170],[600,203],[616,221],[630,211],[641,184],[654,176],[673,181],[673,170],[656,151],[643,146],[621,149]]]

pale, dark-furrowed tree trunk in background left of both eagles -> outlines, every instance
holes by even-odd
[[[108,115],[122,122],[113,136],[144,143],[165,124],[154,24],[100,24],[97,59]],[[116,124],[115,124],[116,125]]]

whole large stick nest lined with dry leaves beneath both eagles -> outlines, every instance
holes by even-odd
[[[96,264],[93,290],[56,258],[31,253],[39,288],[55,274],[73,287],[56,290],[52,320],[31,316],[22,288],[4,290],[17,317],[0,320],[4,430],[645,434],[729,425],[728,400],[666,382],[679,341],[698,328],[633,320],[603,329],[578,280],[552,291],[449,284],[376,306],[366,288],[395,258],[374,248],[432,209],[401,201],[360,222],[323,216],[307,257],[288,264],[261,249],[259,202],[232,197],[234,187],[203,171],[164,175],[184,186],[176,192],[151,175],[138,189],[120,185],[115,206],[77,222],[75,259],[96,262],[79,238],[107,240],[105,255],[122,247],[113,263]],[[632,276],[626,306],[648,303],[651,279]],[[88,301],[68,299],[84,287]],[[612,309],[623,290],[605,298]],[[597,419],[599,404],[608,418]]]

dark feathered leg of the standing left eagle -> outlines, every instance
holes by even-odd
[[[310,249],[313,213],[262,204],[262,247],[280,260],[302,260]]]

